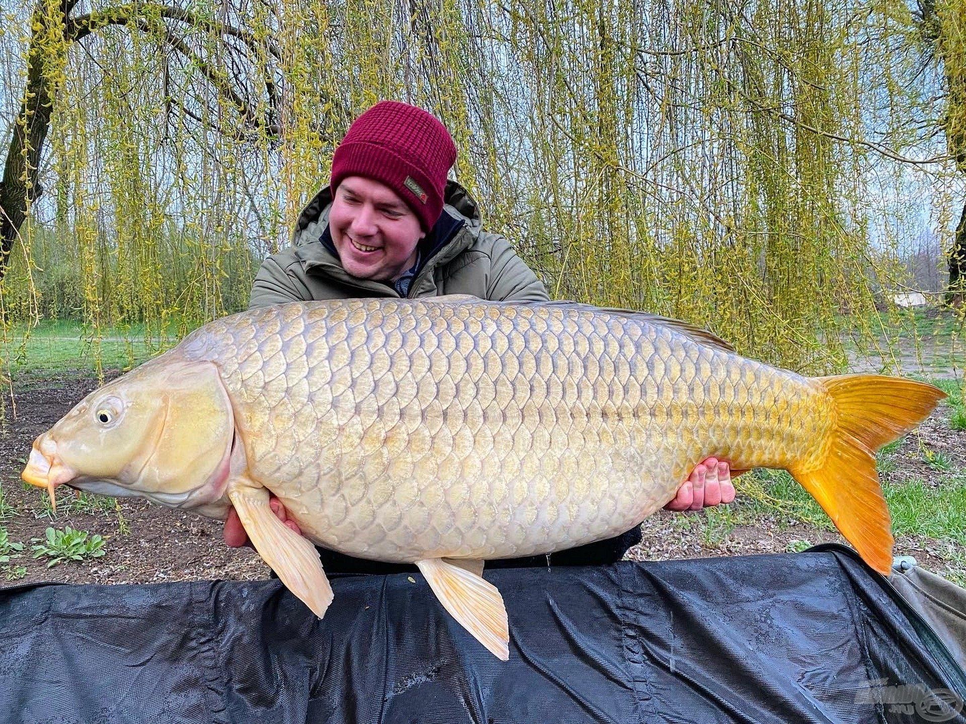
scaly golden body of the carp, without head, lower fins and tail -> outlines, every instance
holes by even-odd
[[[185,350],[244,401],[249,470],[302,530],[388,561],[616,535],[700,459],[794,458],[828,428],[794,414],[822,408],[804,377],[580,305],[294,304],[213,322]]]

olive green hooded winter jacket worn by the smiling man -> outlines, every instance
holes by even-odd
[[[419,267],[408,296],[472,294],[481,299],[549,299],[536,274],[503,237],[483,231],[476,202],[459,183],[446,184],[440,221],[419,243]],[[272,254],[258,270],[248,307],[290,301],[392,296],[389,284],[350,275],[328,234],[332,194],[323,188],[299,214],[293,246]]]

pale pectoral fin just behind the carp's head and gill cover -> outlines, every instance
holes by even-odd
[[[315,546],[271,512],[264,487],[231,486],[228,497],[262,560],[321,619],[332,602],[332,587]]]

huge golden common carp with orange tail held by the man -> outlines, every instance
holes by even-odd
[[[415,563],[506,658],[483,561],[617,535],[710,456],[788,470],[887,573],[874,451],[942,397],[795,375],[683,322],[571,302],[293,303],[213,321],[92,392],[37,438],[23,479],[214,517],[234,506],[318,616],[332,593],[310,541]]]

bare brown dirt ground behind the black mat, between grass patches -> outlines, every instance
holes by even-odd
[[[80,512],[69,509],[71,492],[59,494],[62,512],[54,517],[44,504],[45,492],[27,489],[19,471],[34,438],[49,429],[73,404],[97,386],[86,374],[63,373],[35,379],[14,387],[15,415],[8,403],[8,426],[0,434],[0,484],[3,500],[15,514],[0,520],[10,540],[27,548],[13,564],[26,569],[16,580],[5,580],[0,588],[39,581],[71,583],[152,583],[198,579],[254,579],[268,576],[269,569],[248,548],[228,548],[221,538],[221,523],[197,515],[172,511],[139,498],[119,499],[116,509]],[[950,430],[944,415],[923,426],[923,436],[934,453],[950,457],[953,469],[966,468],[966,432]],[[923,473],[925,480],[937,480],[923,462],[919,438],[910,435],[895,455],[899,473]],[[921,469],[922,468],[922,469]],[[741,495],[739,486],[739,497]],[[718,555],[746,555],[786,552],[806,544],[842,542],[837,533],[803,523],[790,523],[781,515],[756,515],[752,524],[708,526],[703,513],[661,512],[644,521],[644,540],[629,551],[634,560],[663,560]],[[46,559],[34,560],[30,541],[43,538],[47,526],[71,528],[99,534],[106,543],[105,554],[83,562],[45,567]],[[922,537],[899,537],[896,554],[913,555],[930,571],[950,575],[959,571],[957,551],[951,544]]]

